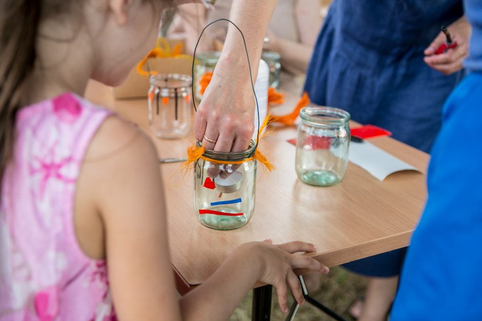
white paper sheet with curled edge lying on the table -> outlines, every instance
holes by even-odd
[[[398,171],[419,171],[412,165],[403,162],[367,141],[363,143],[350,142],[348,159],[379,180],[384,180],[388,175]]]

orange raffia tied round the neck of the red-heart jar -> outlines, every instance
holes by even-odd
[[[269,116],[265,118],[265,121],[263,122],[263,125],[259,128],[259,132],[263,132],[266,126],[268,126],[268,121],[269,121]],[[260,138],[263,138],[261,136]],[[194,163],[196,162],[197,159],[205,159],[208,160],[211,163],[216,163],[216,164],[242,164],[244,162],[247,162],[248,160],[256,159],[257,162],[263,164],[267,170],[270,172],[274,170],[276,167],[269,162],[269,160],[266,158],[265,155],[263,155],[258,148],[256,148],[256,151],[254,152],[254,156],[249,157],[247,159],[243,160],[236,160],[234,162],[229,162],[227,160],[217,160],[217,159],[212,159],[208,158],[206,156],[203,156],[205,151],[204,146],[198,147],[197,145],[192,145],[188,147],[188,159],[186,162],[184,162],[181,167],[187,172],[189,170],[192,170],[194,167]]]

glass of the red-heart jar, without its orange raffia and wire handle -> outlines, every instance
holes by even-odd
[[[205,150],[203,156],[212,160],[196,160],[194,211],[201,224],[231,230],[248,223],[254,211],[256,190],[254,146],[251,141],[249,149],[242,152]],[[243,163],[230,164],[239,161]]]

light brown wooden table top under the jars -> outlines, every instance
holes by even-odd
[[[149,133],[147,99],[114,101],[108,88],[98,84],[90,86],[87,96]],[[290,102],[292,108],[293,99]],[[193,137],[152,137],[161,157],[184,157],[194,141]],[[236,246],[252,240],[271,238],[274,243],[284,243],[300,239],[313,243],[317,252],[310,255],[330,267],[409,244],[426,199],[425,174],[399,172],[380,182],[349,163],[342,183],[313,187],[296,176],[295,147],[287,142],[294,137],[294,127],[276,128],[260,144],[277,170],[264,173],[258,167],[255,212],[246,226],[236,230],[219,231],[199,224],[193,210],[192,174],[184,175],[178,163],[160,165],[172,266],[180,294],[202,284]],[[370,142],[425,173],[428,154],[389,137]]]

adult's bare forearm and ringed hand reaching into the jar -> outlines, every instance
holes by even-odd
[[[235,0],[232,25],[213,77],[197,108],[194,136],[206,149],[236,152],[248,149],[254,131],[254,93],[251,79],[256,79],[269,19],[276,0]],[[252,77],[252,78],[250,78]]]

